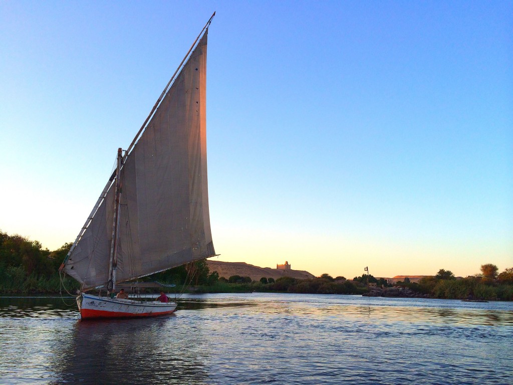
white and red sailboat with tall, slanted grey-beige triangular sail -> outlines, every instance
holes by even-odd
[[[94,205],[60,271],[81,317],[160,316],[175,302],[114,297],[116,285],[215,255],[206,147],[208,27],[192,44]],[[106,288],[107,296],[87,293]]]

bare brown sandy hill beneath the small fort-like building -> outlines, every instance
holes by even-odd
[[[259,267],[245,262],[221,262],[207,259],[210,272],[218,272],[220,277],[230,278],[232,275],[251,277],[253,281],[260,281],[260,278],[292,277],[299,279],[315,278],[313,274],[302,270],[278,270],[270,267]]]

